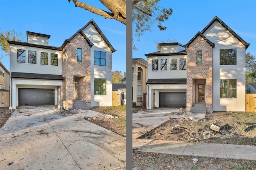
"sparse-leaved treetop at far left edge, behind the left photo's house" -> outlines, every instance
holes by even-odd
[[[21,33],[17,33],[13,30],[6,30],[0,33],[0,46],[2,51],[4,51],[6,56],[10,57],[10,45],[7,41],[23,41]]]

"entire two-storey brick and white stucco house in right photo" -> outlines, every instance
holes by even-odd
[[[146,54],[148,109],[192,111],[199,103],[207,113],[245,111],[245,51],[250,44],[217,16],[186,45],[159,45],[161,51]]]

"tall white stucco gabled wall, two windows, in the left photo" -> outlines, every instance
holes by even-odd
[[[83,30],[94,44],[91,48],[91,106],[112,106],[112,51],[90,23]],[[94,51],[106,52],[106,66],[94,65]],[[106,95],[94,95],[94,78],[106,78]]]

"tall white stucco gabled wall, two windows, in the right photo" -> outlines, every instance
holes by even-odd
[[[204,36],[215,43],[212,51],[212,109],[245,111],[245,46],[217,21]],[[236,65],[220,65],[220,49],[236,49]],[[220,98],[220,79],[237,80],[237,98]]]

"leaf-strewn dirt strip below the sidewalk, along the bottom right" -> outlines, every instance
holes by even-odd
[[[132,152],[133,170],[254,170],[256,160]],[[198,161],[194,162],[196,158]]]

